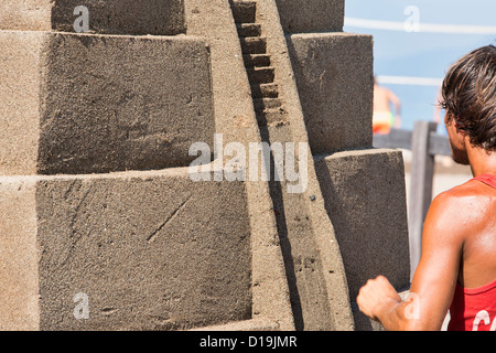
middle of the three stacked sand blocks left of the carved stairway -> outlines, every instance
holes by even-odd
[[[0,174],[185,167],[215,132],[191,36],[0,32]]]

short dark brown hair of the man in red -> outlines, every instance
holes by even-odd
[[[479,47],[459,60],[442,86],[448,119],[465,130],[471,143],[496,150],[496,47]]]

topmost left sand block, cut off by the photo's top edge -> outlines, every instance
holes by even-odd
[[[74,33],[74,22],[83,14],[79,7],[88,11],[91,33],[175,35],[186,32],[184,0],[2,0],[0,29]]]

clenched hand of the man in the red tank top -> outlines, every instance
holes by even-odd
[[[385,313],[401,303],[401,298],[384,276],[369,279],[356,298],[358,308],[373,320],[378,321]]]

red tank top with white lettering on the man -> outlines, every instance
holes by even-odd
[[[496,176],[474,178],[496,189]],[[496,280],[474,289],[456,285],[448,331],[496,331]]]

